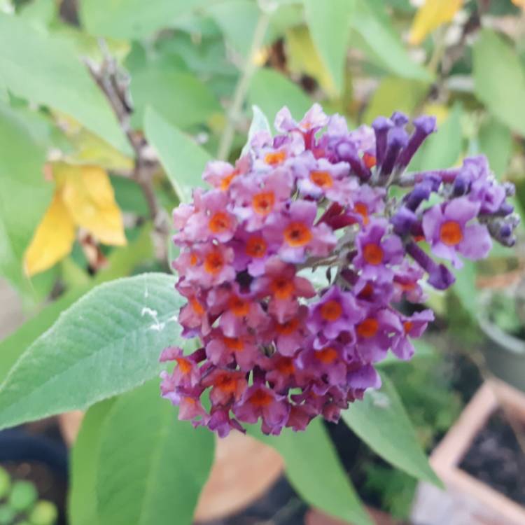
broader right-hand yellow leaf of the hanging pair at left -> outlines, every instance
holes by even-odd
[[[58,162],[53,174],[76,225],[104,244],[126,244],[122,214],[104,169]]]

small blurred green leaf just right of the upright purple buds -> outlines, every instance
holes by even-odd
[[[411,171],[440,169],[453,166],[463,151],[461,132],[461,105],[456,104],[449,117],[436,133],[430,135],[414,155],[408,169]]]

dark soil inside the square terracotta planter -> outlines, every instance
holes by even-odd
[[[525,433],[524,423],[521,430]],[[490,417],[459,466],[507,498],[525,505],[525,455],[503,410]]]

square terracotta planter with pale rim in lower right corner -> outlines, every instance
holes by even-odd
[[[525,507],[459,468],[493,412],[503,408],[525,423],[525,395],[503,381],[486,381],[430,456],[446,491],[420,484],[412,520],[424,525],[524,525]]]

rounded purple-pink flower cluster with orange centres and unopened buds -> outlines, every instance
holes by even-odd
[[[299,123],[282,109],[275,127],[235,166],[210,162],[213,189],[174,211],[176,288],[188,300],[179,322],[199,348],[162,352],[176,362],[162,395],[179,419],[221,436],[242,422],[279,434],[318,415],[337,421],[380,386],[374,365],[388,350],[414,353],[433,320],[418,304],[426,283],[454,283],[440,260],[460,267],[460,255],[484,258],[491,237],[514,243],[513,188],[484,157],[405,172],[432,117],[394,113],[349,132],[316,104]]]

